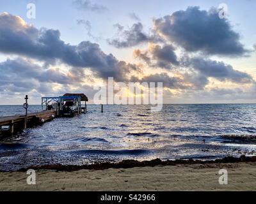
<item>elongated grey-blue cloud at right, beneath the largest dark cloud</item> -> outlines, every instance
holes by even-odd
[[[235,70],[224,62],[211,59],[193,58],[189,60],[190,66],[199,71],[205,77],[214,77],[220,81],[230,80],[234,83],[252,83],[253,79],[247,73]],[[187,64],[189,66],[189,64]]]

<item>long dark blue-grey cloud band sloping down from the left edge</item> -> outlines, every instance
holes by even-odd
[[[8,13],[0,15],[0,52],[25,55],[48,63],[63,62],[76,68],[90,68],[97,77],[124,81],[131,64],[105,54],[97,43],[82,41],[69,45],[60,40],[60,31],[36,29]]]

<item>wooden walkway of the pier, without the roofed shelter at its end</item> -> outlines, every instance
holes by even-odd
[[[56,110],[46,110],[42,112],[28,113],[27,122],[26,115],[13,115],[0,118],[1,126],[10,126],[10,133],[15,133],[22,129],[26,129],[38,124],[42,124],[47,120],[56,117]]]

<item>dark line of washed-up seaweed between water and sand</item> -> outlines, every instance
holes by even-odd
[[[137,161],[137,160],[123,160],[119,163],[95,163],[86,165],[62,165],[62,164],[51,164],[44,166],[30,166],[29,168],[21,168],[20,170],[0,170],[0,173],[4,172],[24,172],[29,169],[33,170],[56,170],[56,171],[79,171],[79,170],[108,170],[109,168],[136,168],[136,167],[154,167],[154,166],[177,166],[180,164],[192,165],[192,164],[225,164],[225,163],[256,163],[256,156],[252,157],[224,157],[223,159],[215,160],[195,160],[195,159],[175,159],[161,161],[161,159],[152,159],[150,161]]]

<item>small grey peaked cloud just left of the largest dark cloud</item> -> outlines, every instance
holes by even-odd
[[[122,38],[108,40],[109,45],[113,45],[116,48],[126,48],[147,43],[148,41],[159,41],[157,36],[145,33],[140,22],[133,24],[130,29],[122,31],[120,35]]]

